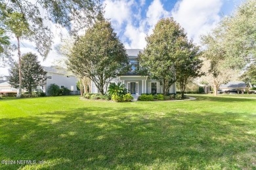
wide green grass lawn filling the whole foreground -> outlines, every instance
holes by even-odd
[[[0,169],[256,169],[256,99],[0,100]],[[252,96],[252,97],[251,97]]]

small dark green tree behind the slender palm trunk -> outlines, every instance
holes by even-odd
[[[40,62],[37,61],[37,56],[32,53],[24,54],[21,58],[22,71],[22,88],[26,89],[30,94],[32,89],[36,86],[43,86],[46,80],[46,72],[41,67]],[[19,69],[18,63],[9,70],[9,82],[14,88],[19,87]]]

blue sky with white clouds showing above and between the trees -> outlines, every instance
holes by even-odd
[[[105,17],[112,22],[119,39],[125,48],[141,48],[146,46],[145,37],[152,33],[154,25],[161,18],[173,17],[184,27],[188,38],[196,44],[200,43],[200,35],[209,32],[223,16],[231,14],[242,0],[104,0]],[[68,35],[66,29],[51,24],[54,33],[53,50],[41,64],[54,65],[61,56],[54,46],[61,43],[60,33]],[[16,41],[13,39],[13,42]],[[33,43],[22,41],[21,52],[33,52]],[[16,56],[16,52],[14,53]],[[17,57],[16,57],[17,58]],[[0,68],[0,75],[8,75],[8,68]]]

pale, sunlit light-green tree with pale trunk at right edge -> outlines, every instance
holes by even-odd
[[[211,33],[202,36],[207,63],[204,78],[214,87],[215,95],[221,84],[237,78],[238,72],[256,58],[255,5],[256,1],[245,1]]]

